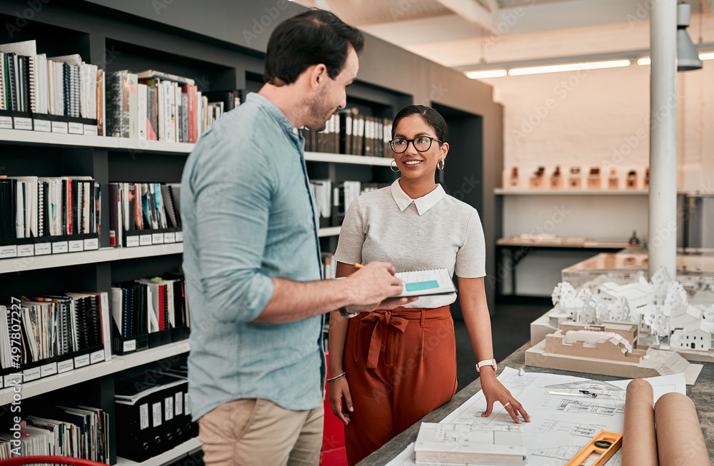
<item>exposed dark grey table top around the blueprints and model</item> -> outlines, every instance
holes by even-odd
[[[526,371],[528,372],[574,375],[575,377],[585,377],[593,380],[618,379],[617,377],[612,377],[610,375],[583,374],[570,372],[568,370],[536,368],[530,365],[526,366],[526,350],[528,348],[531,348],[531,343],[526,343],[526,345],[521,346],[521,348],[518,348],[518,350],[508,356],[508,358],[498,363],[497,375],[501,375],[503,368],[508,366],[516,370],[526,368]],[[699,422],[702,425],[702,432],[704,434],[704,440],[707,444],[709,459],[714,462],[714,409],[712,409],[714,406],[714,363],[703,363],[703,365],[704,368],[697,379],[696,385],[687,385],[687,396],[693,400],[695,406],[697,407],[697,415],[699,416]],[[444,417],[446,417],[453,410],[456,410],[457,407],[461,406],[479,390],[481,390],[481,380],[477,378],[472,383],[467,385],[466,388],[463,388],[456,395],[454,395],[449,402],[441,405],[436,408],[436,410],[433,410],[428,415],[424,416],[421,419],[421,422],[439,422],[443,420]],[[386,463],[390,462],[394,457],[396,457],[396,455],[401,453],[407,445],[416,440],[416,435],[419,432],[421,422],[417,422],[415,425],[409,427],[407,430],[394,437],[386,445],[359,462],[358,466],[386,465]]]

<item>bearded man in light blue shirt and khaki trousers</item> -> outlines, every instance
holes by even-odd
[[[298,128],[346,105],[362,34],[309,10],[278,25],[266,84],[213,123],[181,180],[191,318],[188,383],[210,466],[317,465],[323,314],[391,309],[388,263],[321,281],[316,210]]]

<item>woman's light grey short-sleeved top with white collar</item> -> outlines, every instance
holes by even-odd
[[[391,262],[397,272],[446,268],[449,275],[486,275],[486,245],[476,209],[448,196],[441,185],[418,199],[399,180],[356,198],[342,223],[335,260],[342,263]],[[423,296],[409,308],[438,308],[451,295]]]

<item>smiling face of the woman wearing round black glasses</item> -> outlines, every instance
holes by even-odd
[[[401,118],[394,130],[395,139],[414,139],[419,138],[419,136],[428,136],[435,139],[435,141],[431,141],[431,147],[428,151],[417,151],[414,143],[409,142],[406,151],[403,153],[392,152],[392,155],[403,178],[409,178],[411,181],[431,180],[433,182],[436,164],[446,158],[448,143],[438,143],[436,141],[438,136],[436,136],[434,128],[419,115],[409,115]]]

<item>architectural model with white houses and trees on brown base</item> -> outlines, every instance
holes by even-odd
[[[531,323],[527,365],[641,378],[714,361],[714,305],[688,303],[664,269],[625,285],[562,282],[552,297],[554,308]]]

